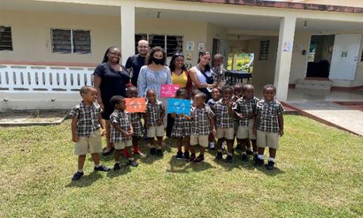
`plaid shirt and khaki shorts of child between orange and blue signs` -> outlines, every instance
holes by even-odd
[[[158,125],[158,120],[161,118],[161,114],[165,111],[163,102],[156,100],[155,104],[146,102],[146,123],[149,124],[147,129],[147,137],[163,137],[164,125]]]

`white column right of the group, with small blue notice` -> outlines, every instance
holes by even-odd
[[[274,81],[277,88],[276,97],[279,101],[287,100],[295,25],[296,17],[281,18]]]

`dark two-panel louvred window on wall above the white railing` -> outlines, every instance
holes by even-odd
[[[52,29],[53,53],[90,53],[90,31]]]

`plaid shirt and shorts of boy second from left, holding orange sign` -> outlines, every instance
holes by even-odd
[[[125,132],[130,132],[131,130],[130,116],[126,111],[115,109],[110,115],[109,121],[111,124],[116,123]],[[115,149],[117,150],[125,149],[125,147],[131,147],[132,145],[131,137],[126,137],[126,135],[116,130],[113,125],[111,125],[110,142],[114,142]]]

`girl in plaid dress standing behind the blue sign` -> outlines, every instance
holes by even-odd
[[[188,99],[188,91],[185,88],[178,89],[175,94],[176,98],[179,99]],[[177,159],[186,159],[189,160],[189,144],[190,144],[190,135],[191,135],[191,123],[186,119],[184,114],[175,114],[172,113],[172,118],[175,118],[174,125],[172,127],[172,137],[177,138]],[[182,142],[184,138],[184,156],[182,151]]]

